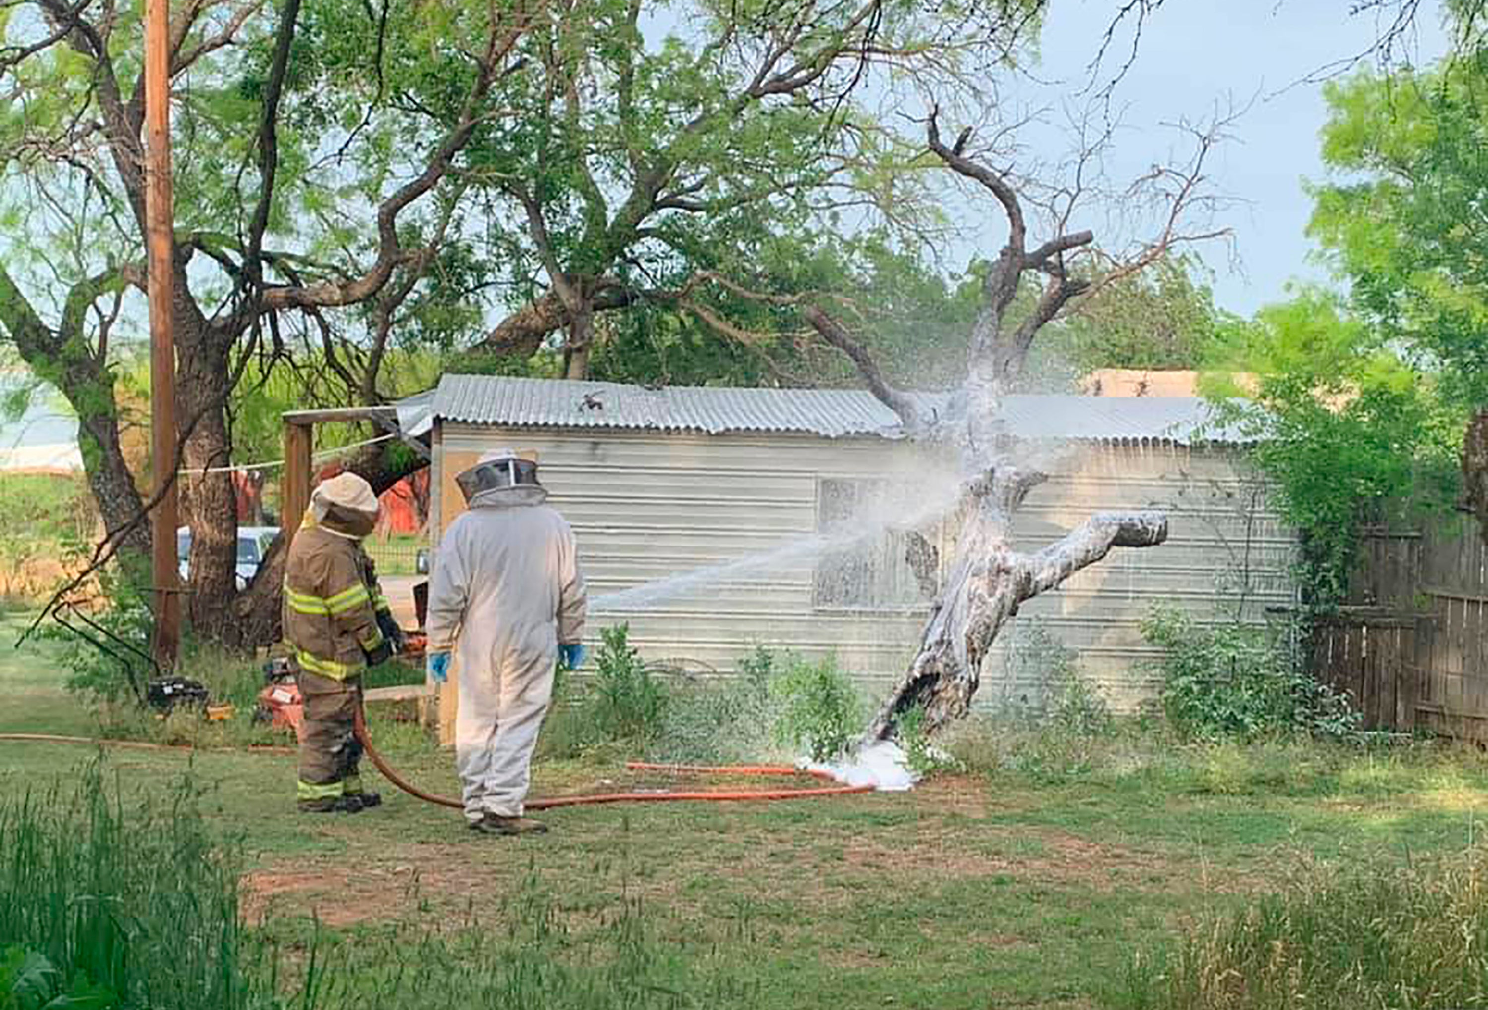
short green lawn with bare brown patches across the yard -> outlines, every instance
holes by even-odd
[[[0,677],[28,692],[25,729],[74,718],[22,669]],[[990,754],[982,771],[908,794],[573,808],[546,815],[546,837],[521,840],[472,836],[375,772],[379,811],[296,815],[287,756],[121,750],[109,769],[125,794],[167,794],[190,773],[210,830],[243,842],[244,913],[265,936],[304,949],[318,918],[368,979],[391,964],[479,974],[442,991],[463,1006],[512,976],[496,962],[460,968],[458,936],[420,946],[432,927],[478,922],[506,943],[543,924],[545,959],[507,958],[501,971],[561,974],[644,951],[662,967],[646,982],[631,970],[626,985],[680,988],[676,1006],[1132,1006],[1134,953],[1178,951],[1192,924],[1290,892],[1299,867],[1394,873],[1461,852],[1488,811],[1488,763],[1449,747],[1213,748],[1128,733],[1043,753],[1030,742],[1019,765],[1010,745],[995,750],[1004,730],[978,732],[958,748]],[[451,756],[417,727],[375,721],[373,735],[414,781],[455,791]],[[0,744],[0,800],[88,753]],[[545,762],[534,794],[665,784],[610,760]],[[522,912],[534,907],[537,919]],[[394,934],[406,961],[390,953]],[[564,977],[564,992],[594,980]]]

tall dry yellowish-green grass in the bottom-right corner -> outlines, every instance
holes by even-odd
[[[1125,1010],[1448,1010],[1488,1006],[1488,885],[1437,866],[1320,867],[1137,958]]]

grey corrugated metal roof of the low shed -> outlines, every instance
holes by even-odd
[[[926,406],[943,394],[918,394]],[[899,437],[899,418],[862,390],[768,390],[618,385],[497,375],[445,375],[434,393],[445,421],[501,427],[649,431],[799,433]],[[1217,430],[1198,397],[1009,396],[1007,428],[1025,439],[1092,442],[1244,442]]]

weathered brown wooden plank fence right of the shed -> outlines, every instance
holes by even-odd
[[[1370,729],[1488,742],[1488,547],[1467,516],[1364,537],[1350,605],[1318,629],[1314,669]]]

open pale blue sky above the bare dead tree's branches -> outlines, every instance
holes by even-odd
[[[1004,98],[1058,104],[1085,88],[1116,6],[1115,0],[1055,3],[1034,68],[1049,83],[1025,82]],[[1168,0],[1144,27],[1138,58],[1116,92],[1125,128],[1107,159],[1113,180],[1134,178],[1155,159],[1181,153],[1177,135],[1161,123],[1180,116],[1202,120],[1231,100],[1250,106],[1229,131],[1234,140],[1211,162],[1214,187],[1240,201],[1222,217],[1234,228],[1238,269],[1223,244],[1204,251],[1222,308],[1248,315],[1284,299],[1292,280],[1327,277],[1326,268],[1309,262],[1315,247],[1305,229],[1312,205],[1302,186],[1324,177],[1318,129],[1327,109],[1321,85],[1298,82],[1364,52],[1376,39],[1379,25],[1367,15],[1350,16],[1353,6],[1350,0]],[[1421,65],[1445,51],[1439,3],[1426,0],[1402,55]],[[1116,67],[1113,54],[1109,68]]]

